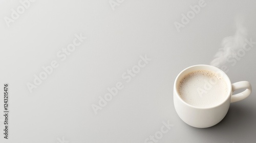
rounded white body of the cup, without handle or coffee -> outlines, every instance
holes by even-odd
[[[224,100],[214,106],[200,107],[185,102],[178,90],[183,78],[193,71],[208,70],[222,78],[227,85]],[[221,69],[210,65],[194,65],[185,68],[177,76],[174,83],[174,106],[180,118],[190,126],[207,128],[218,124],[226,115],[231,99],[232,86],[228,76]],[[189,93],[188,93],[189,94]]]

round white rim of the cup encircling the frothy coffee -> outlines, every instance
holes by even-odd
[[[227,86],[228,86],[228,91],[227,91],[227,94],[226,94],[226,98],[219,104],[215,105],[215,106],[211,106],[211,107],[198,107],[198,106],[194,106],[194,105],[190,105],[188,103],[186,103],[181,97],[180,97],[180,94],[178,93],[177,91],[177,81],[178,81],[178,78],[184,73],[184,71],[190,69],[190,68],[194,68],[194,67],[198,67],[198,66],[206,66],[206,67],[209,67],[209,68],[215,68],[217,69],[218,71],[220,71],[222,73],[222,76],[225,76],[226,78],[224,78],[225,82],[227,83]],[[198,65],[192,65],[192,66],[189,66],[185,69],[183,69],[179,75],[176,77],[175,79],[175,82],[174,82],[174,91],[178,97],[178,99],[185,105],[189,106],[189,107],[193,107],[193,108],[197,108],[197,109],[211,109],[211,108],[216,108],[220,105],[223,105],[227,100],[230,100],[230,96],[231,96],[231,91],[232,91],[232,87],[231,87],[231,82],[230,82],[230,79],[228,78],[228,76],[226,75],[226,73],[221,70],[220,68],[218,67],[215,67],[215,66],[211,66],[211,65],[206,65],[206,64],[198,64]],[[175,96],[175,95],[174,95]]]

